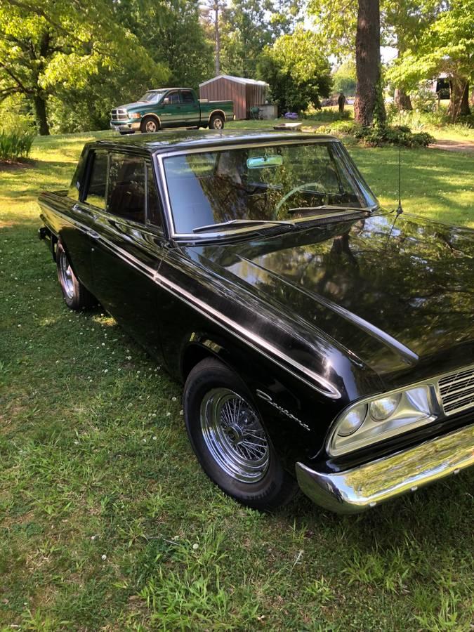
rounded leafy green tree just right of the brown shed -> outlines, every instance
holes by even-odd
[[[303,27],[265,48],[258,62],[258,77],[270,84],[280,112],[304,111],[310,104],[320,107],[320,97],[329,96],[330,66],[321,51],[320,37]]]

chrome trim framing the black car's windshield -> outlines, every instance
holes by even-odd
[[[214,239],[216,237],[230,236],[230,235],[239,235],[246,232],[255,232],[255,226],[247,226],[246,228],[234,228],[232,230],[225,230],[220,232],[206,232],[201,234],[196,234],[195,232],[186,233],[186,232],[176,232],[176,226],[173,220],[173,211],[171,210],[171,200],[169,198],[168,185],[166,183],[166,173],[164,171],[164,160],[166,158],[171,158],[175,156],[183,156],[185,154],[204,154],[206,152],[214,152],[214,151],[226,151],[226,150],[235,150],[235,149],[246,149],[251,147],[272,147],[275,144],[277,145],[322,145],[331,143],[334,145],[338,145],[341,143],[337,138],[292,138],[291,140],[279,140],[275,138],[273,140],[265,140],[257,143],[229,143],[222,145],[201,145],[200,147],[191,147],[187,150],[171,150],[169,152],[154,152],[154,164],[157,169],[157,173],[159,173],[160,180],[162,180],[162,190],[164,193],[164,211],[166,213],[166,218],[169,223],[170,228],[170,239],[189,239],[190,241],[202,241],[204,239]],[[353,180],[353,177],[350,176],[350,180]],[[356,183],[357,192],[359,192],[359,185]],[[361,208],[362,212],[369,212],[378,209],[378,205],[367,206]],[[292,220],[294,223],[304,223],[307,222],[309,218],[299,218]],[[264,224],[262,224],[264,226]],[[272,226],[269,224],[268,226]]]

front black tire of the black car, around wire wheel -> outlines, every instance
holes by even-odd
[[[214,397],[212,394],[215,393],[218,393],[218,395],[232,393],[235,396],[233,399],[226,400],[227,403],[224,404],[224,406],[229,405],[230,409],[232,409],[231,402],[242,400],[242,410],[239,407],[238,415],[234,415],[234,419],[242,420],[240,424],[244,426],[244,434],[242,435],[242,427],[238,424],[232,426],[224,423],[226,419],[224,415],[225,409],[222,408],[220,416],[211,415],[211,418],[216,419],[218,417],[219,423],[216,426],[219,427],[219,430],[217,432],[224,438],[219,442],[216,439],[216,434],[211,435],[214,440],[214,445],[211,445],[212,442],[209,441],[207,424],[203,419],[209,417],[209,414],[206,414],[208,409],[209,411],[214,410],[213,404],[209,404],[209,401],[212,402],[213,400],[209,400],[209,397]],[[227,395],[227,397],[232,397],[232,395]],[[224,396],[222,395],[222,397]],[[221,399],[220,401],[223,400]],[[211,408],[209,408],[209,405]],[[283,469],[282,463],[261,424],[260,415],[252,402],[249,390],[242,380],[228,369],[225,364],[213,358],[207,358],[192,369],[185,383],[183,408],[187,434],[197,459],[204,472],[225,494],[232,496],[232,498],[235,498],[243,505],[262,511],[276,509],[293,498],[298,489],[296,481]],[[233,410],[235,413],[235,407]],[[203,428],[206,429],[203,430]],[[234,428],[237,428],[240,433],[240,440],[235,434]],[[230,433],[234,433],[232,437],[232,442],[234,443],[232,445],[229,440]],[[252,434],[250,435],[249,433]],[[252,459],[242,459],[241,454],[237,454],[237,448],[241,452],[242,449],[245,449],[242,442],[245,440],[245,437],[249,436],[252,438],[252,441],[259,442],[259,455],[262,455],[263,450],[265,450],[264,456],[261,456],[260,459],[257,459],[255,454],[252,454]],[[211,447],[209,447],[210,445]],[[252,445],[257,444],[253,443]],[[220,459],[220,456],[216,457],[215,453],[213,453],[216,450],[218,453],[220,447],[223,453],[230,452],[230,461],[225,463],[224,466],[220,463],[220,460],[223,461],[223,459]],[[235,460],[233,458],[235,455],[230,447],[237,454]],[[263,465],[263,461],[265,461],[265,465]],[[241,470],[237,474],[230,473],[229,469],[234,468],[235,463],[251,463],[252,466],[256,463],[256,469],[251,474],[247,472],[246,466],[242,470],[244,475],[251,480],[240,480],[242,477]]]

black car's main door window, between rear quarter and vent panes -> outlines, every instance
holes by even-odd
[[[145,223],[145,161],[143,158],[110,154],[107,211]]]

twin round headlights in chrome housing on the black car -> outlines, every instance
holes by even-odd
[[[423,384],[353,404],[332,426],[327,451],[347,454],[436,419],[440,409],[433,384]]]

